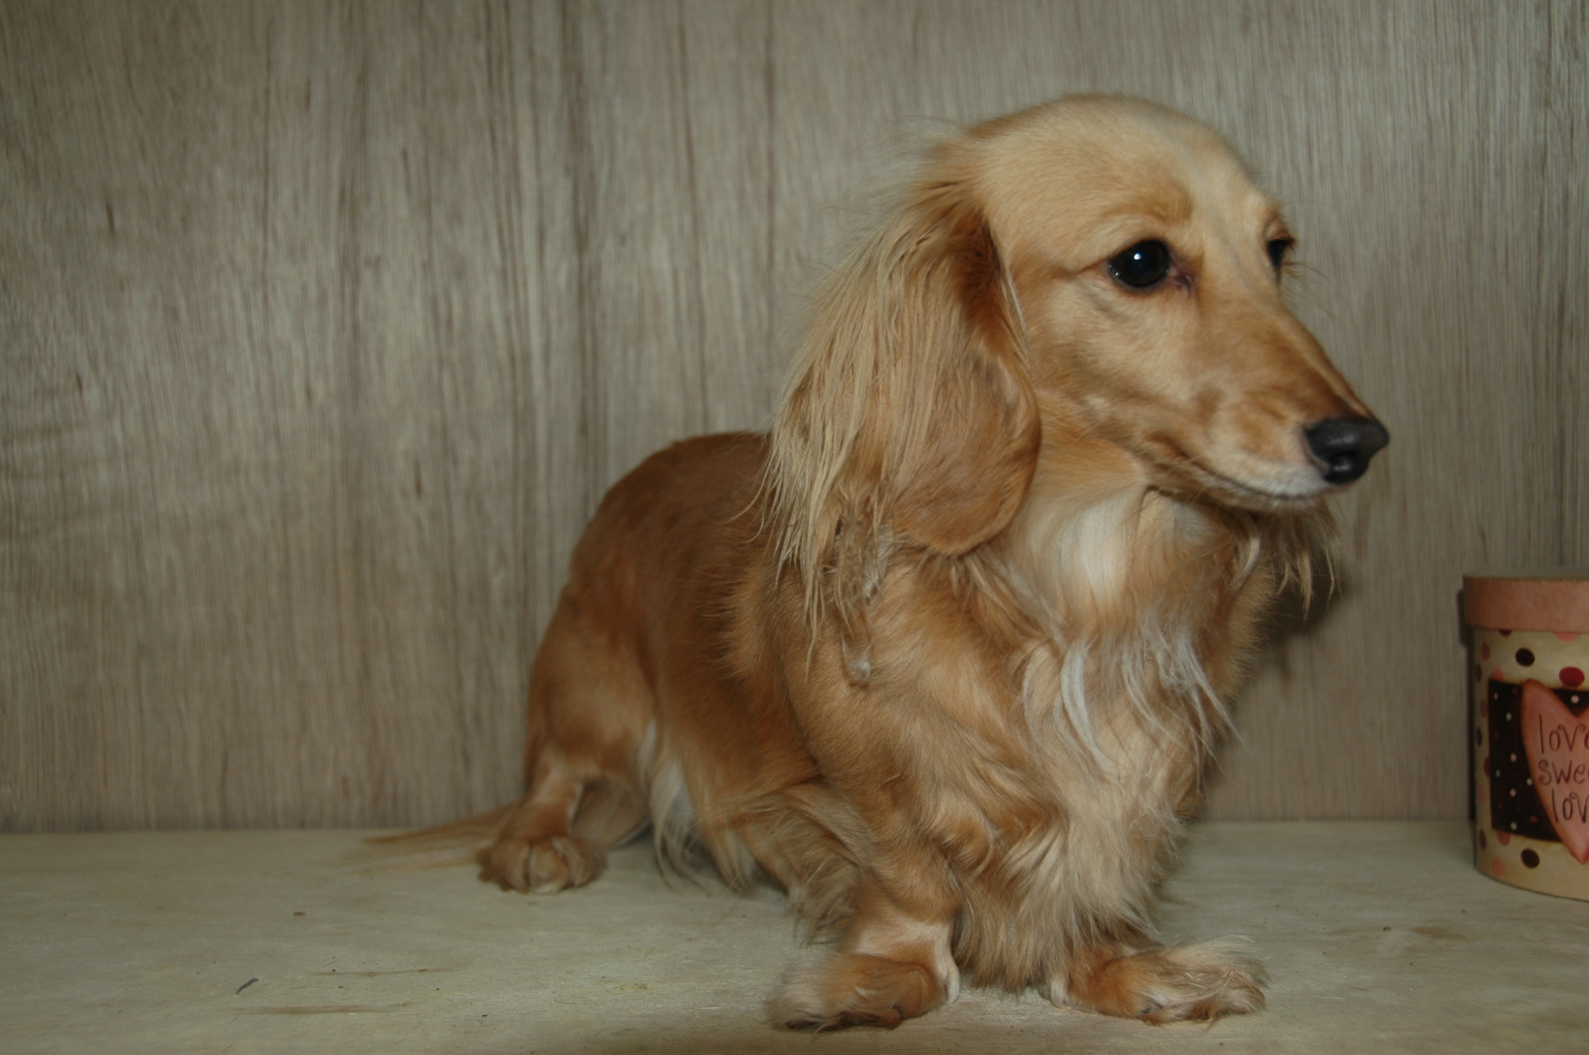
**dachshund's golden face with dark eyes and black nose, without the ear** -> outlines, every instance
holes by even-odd
[[[1384,446],[1286,307],[1286,221],[1211,130],[1077,99],[958,151],[1050,431],[1112,443],[1166,491],[1255,510],[1311,502]]]

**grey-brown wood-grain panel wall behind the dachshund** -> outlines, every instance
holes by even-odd
[[[604,489],[763,427],[914,151],[1209,121],[1394,443],[1225,818],[1460,817],[1463,570],[1589,564],[1586,6],[0,6],[0,828],[410,825],[518,788]]]

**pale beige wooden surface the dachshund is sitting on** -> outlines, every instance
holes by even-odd
[[[0,837],[0,1052],[1589,1052],[1589,902],[1473,871],[1465,825],[1203,825],[1166,937],[1249,934],[1268,1011],[1152,1028],[968,991],[891,1033],[780,1033],[782,901],[645,847],[550,898],[359,833]],[[421,866],[423,864],[423,866]]]

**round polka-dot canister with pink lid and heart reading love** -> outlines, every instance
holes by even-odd
[[[1467,575],[1475,863],[1589,901],[1589,572]]]

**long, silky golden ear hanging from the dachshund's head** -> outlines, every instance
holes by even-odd
[[[829,276],[779,410],[774,507],[812,601],[823,574],[841,609],[863,599],[899,543],[976,548],[1031,483],[1042,434],[1012,288],[947,170]]]

